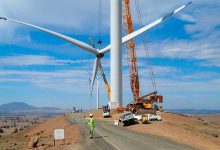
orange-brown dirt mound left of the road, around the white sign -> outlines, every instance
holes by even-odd
[[[64,141],[57,141],[56,146],[54,146],[54,128],[65,129],[65,144]],[[32,147],[31,141],[35,139],[38,139],[38,143],[36,147]],[[0,138],[0,149],[80,149],[81,140],[82,136],[79,127],[70,124],[65,116],[58,116],[25,131]]]

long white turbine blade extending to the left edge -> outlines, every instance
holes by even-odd
[[[18,23],[18,24],[22,24],[22,25],[25,25],[25,26],[29,26],[29,27],[38,29],[40,31],[44,31],[46,33],[49,33],[49,34],[54,35],[56,37],[59,37],[59,38],[65,40],[67,42],[70,42],[70,43],[72,43],[72,44],[74,44],[74,45],[90,52],[90,53],[93,53],[93,54],[96,54],[96,55],[98,54],[98,51],[95,48],[91,47],[90,45],[88,45],[88,44],[86,44],[82,41],[76,40],[74,38],[71,38],[69,36],[63,35],[61,33],[58,33],[58,32],[43,28],[43,27],[39,27],[39,26],[36,26],[36,25],[32,25],[32,24],[29,24],[29,23],[25,23],[25,22],[22,22],[22,21],[19,21],[19,20],[15,20],[15,19],[10,19],[10,18],[5,18],[5,17],[0,17],[0,19],[6,20],[6,21],[8,20],[8,21],[11,21],[11,22],[15,22],[15,23]]]

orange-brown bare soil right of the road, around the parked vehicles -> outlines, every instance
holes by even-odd
[[[101,116],[102,110],[93,110],[87,115],[89,113],[93,113],[98,120],[105,120]],[[114,111],[111,115],[112,117],[106,120],[114,120],[120,116]],[[151,124],[139,123],[126,128],[135,132],[166,137],[200,149],[220,150],[220,125],[212,123],[213,120],[207,122],[194,117],[165,112],[159,113],[159,115],[162,117],[162,121],[154,121]],[[218,120],[218,117],[215,120]],[[206,116],[206,118],[210,117]]]

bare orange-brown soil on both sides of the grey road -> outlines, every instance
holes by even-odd
[[[121,115],[112,110],[110,118],[103,118],[102,110],[93,110],[86,116],[88,117],[90,113],[93,113],[97,120],[109,120],[112,123]],[[159,115],[162,116],[162,121],[151,122],[151,124],[139,123],[125,128],[144,134],[166,137],[200,149],[220,150],[220,115],[184,116],[165,112],[159,113]],[[53,145],[54,128],[65,129],[65,144],[64,141],[57,141],[56,146]],[[30,141],[35,139],[38,139],[36,147],[30,147]],[[32,128],[0,138],[0,149],[81,149],[82,140],[83,136],[79,127],[70,124],[65,116],[58,116]]]

